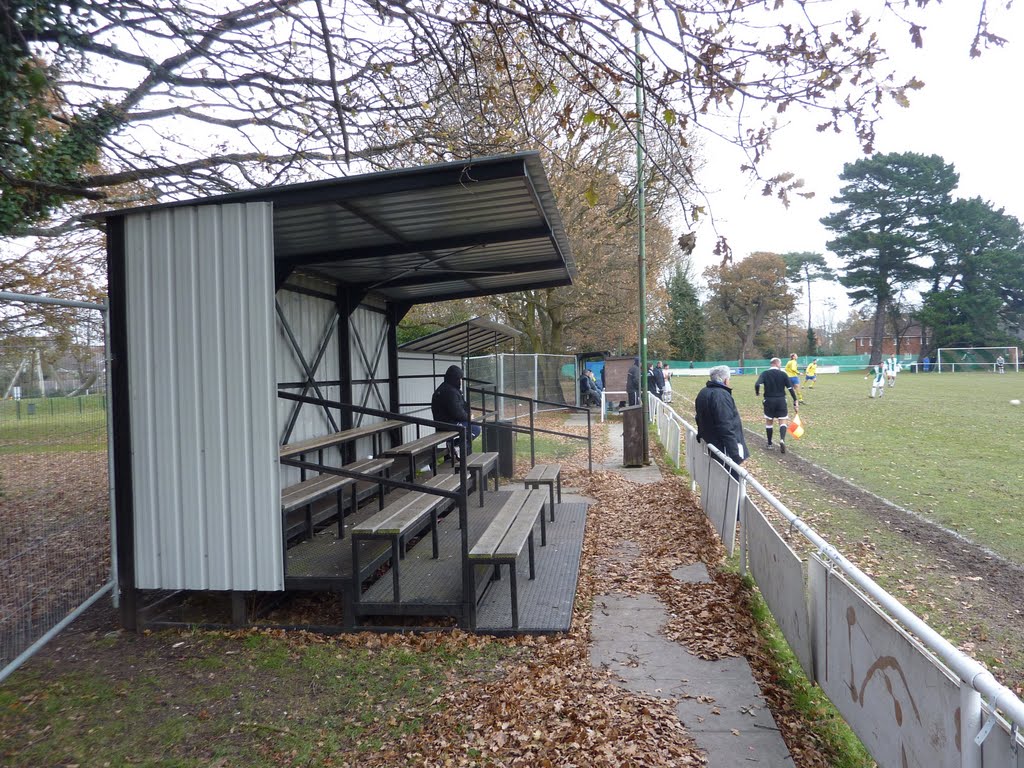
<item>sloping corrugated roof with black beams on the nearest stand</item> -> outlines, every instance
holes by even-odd
[[[569,285],[575,264],[540,155],[443,163],[103,214],[273,203],[279,285],[299,269],[396,302]]]

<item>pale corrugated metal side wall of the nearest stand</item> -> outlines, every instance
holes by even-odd
[[[271,218],[126,218],[137,588],[284,587]]]

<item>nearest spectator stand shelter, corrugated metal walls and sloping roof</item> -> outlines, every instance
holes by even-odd
[[[412,306],[568,285],[575,271],[536,153],[103,219],[128,627],[151,595],[296,586],[281,492],[305,468],[279,449],[403,413],[399,370],[437,356],[399,361]],[[322,461],[366,455],[372,439]]]

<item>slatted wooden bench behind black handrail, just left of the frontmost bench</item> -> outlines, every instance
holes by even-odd
[[[421,485],[441,490],[458,490],[462,478],[459,475],[440,474],[429,478]],[[399,562],[406,556],[407,540],[423,529],[429,520],[433,544],[433,558],[437,550],[437,516],[452,504],[443,496],[410,492],[388,504],[377,514],[352,526],[352,574],[355,583],[355,599],[359,598],[362,577],[359,571],[359,542],[365,539],[387,539],[391,542],[391,583],[394,601],[401,601],[399,588]]]

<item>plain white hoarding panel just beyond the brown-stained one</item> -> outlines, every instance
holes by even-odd
[[[808,680],[814,679],[804,565],[748,497],[743,503],[746,559],[758,589]]]

